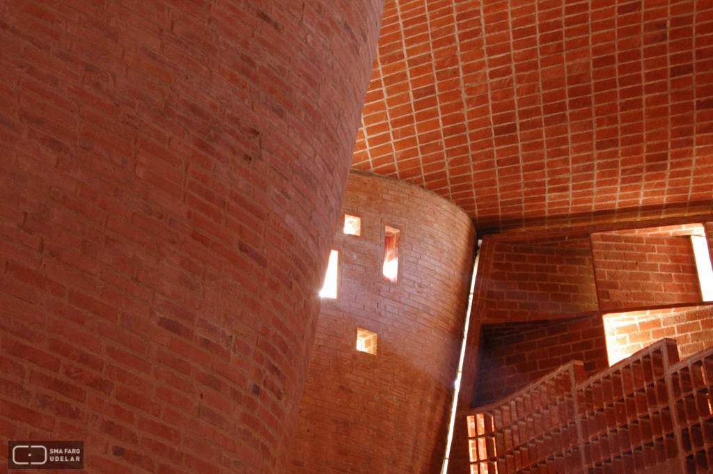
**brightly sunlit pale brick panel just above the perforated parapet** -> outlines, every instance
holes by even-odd
[[[605,314],[609,362],[614,364],[664,337],[683,359],[713,346],[713,306]]]

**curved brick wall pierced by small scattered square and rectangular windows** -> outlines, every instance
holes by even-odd
[[[458,365],[475,230],[413,185],[352,170],[339,230],[339,289],[324,299],[290,472],[438,473]],[[381,276],[384,226],[401,231],[396,284]],[[377,354],[358,352],[357,327]]]

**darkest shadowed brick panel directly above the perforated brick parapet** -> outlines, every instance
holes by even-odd
[[[472,406],[485,406],[505,398],[573,360],[584,363],[587,376],[609,366],[604,325],[598,314],[483,325],[478,391]]]

